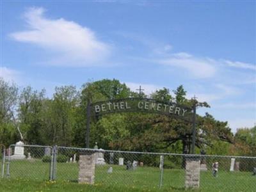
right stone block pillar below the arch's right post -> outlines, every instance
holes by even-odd
[[[186,157],[185,188],[199,188],[200,186],[200,159]]]

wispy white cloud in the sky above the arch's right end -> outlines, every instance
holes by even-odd
[[[155,61],[162,65],[183,68],[198,78],[212,77],[216,72],[215,61],[208,58],[196,58],[186,52],[178,52],[167,58]]]

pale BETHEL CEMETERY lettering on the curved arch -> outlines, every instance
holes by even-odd
[[[113,113],[122,111],[148,111],[166,113],[170,115],[184,116],[189,109],[176,106],[175,104],[163,104],[154,101],[136,100],[120,102],[102,102],[93,106],[95,113]]]

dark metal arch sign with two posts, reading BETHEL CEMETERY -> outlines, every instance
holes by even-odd
[[[172,118],[179,118],[193,124],[193,144],[192,151],[195,149],[195,117],[196,106],[188,107],[175,102],[163,102],[155,99],[129,97],[124,99],[103,100],[99,102],[90,102],[88,100],[86,109],[86,148],[90,143],[90,118],[109,113],[129,113],[143,112],[167,115]]]

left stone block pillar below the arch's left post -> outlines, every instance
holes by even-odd
[[[79,156],[78,182],[81,184],[94,184],[95,154]]]

